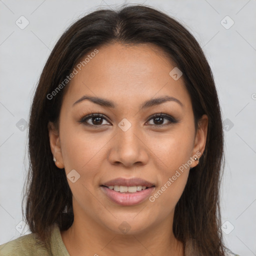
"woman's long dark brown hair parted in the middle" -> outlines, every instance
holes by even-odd
[[[175,206],[173,232],[183,242],[185,255],[224,255],[219,212],[223,130],[211,69],[198,42],[183,25],[162,11],[140,4],[124,5],[117,10],[99,9],[83,16],[62,34],[47,59],[29,119],[25,218],[31,232],[46,241],[53,223],[66,230],[73,221],[71,190],[64,169],[59,170],[52,160],[47,129],[49,121],[58,123],[68,84],[51,99],[47,95],[70,74],[82,56],[114,42],[159,46],[183,73],[195,127],[202,114],[208,116],[205,150],[199,164],[189,171]]]

